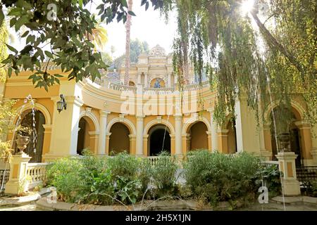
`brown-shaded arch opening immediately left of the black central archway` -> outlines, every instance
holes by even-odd
[[[110,128],[109,154],[126,151],[130,153],[130,130],[125,124],[116,122]]]

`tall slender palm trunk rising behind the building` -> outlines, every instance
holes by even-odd
[[[128,11],[132,11],[132,0],[128,1]],[[130,29],[132,15],[128,13],[127,21],[125,21],[125,80],[124,84],[129,85],[130,70]]]

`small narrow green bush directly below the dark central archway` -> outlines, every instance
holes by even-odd
[[[178,164],[175,156],[162,152],[159,155],[156,164],[151,168],[153,184],[156,186],[156,194],[162,195],[173,194],[177,191],[176,171]]]

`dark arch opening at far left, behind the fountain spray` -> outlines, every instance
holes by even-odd
[[[33,113],[32,110],[25,110],[21,116],[22,120],[20,125],[22,127],[29,127],[33,129]],[[30,142],[27,145],[27,148],[24,150],[27,155],[30,155],[30,162],[42,162],[42,152],[43,152],[43,143],[44,143],[44,127],[45,124],[45,116],[39,111],[35,110],[35,134],[32,132],[30,134]],[[13,143],[13,148],[17,150],[15,142]]]

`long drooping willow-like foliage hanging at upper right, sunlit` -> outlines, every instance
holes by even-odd
[[[242,96],[259,119],[263,105],[277,101],[290,109],[292,96],[299,95],[306,101],[307,119],[315,122],[316,1],[254,1],[243,15],[244,1],[164,2],[161,13],[167,18],[171,10],[178,13],[175,72],[180,80],[186,79],[187,56],[199,77],[209,72],[218,95],[214,115],[218,124],[228,119],[228,113],[235,117],[235,102]]]

